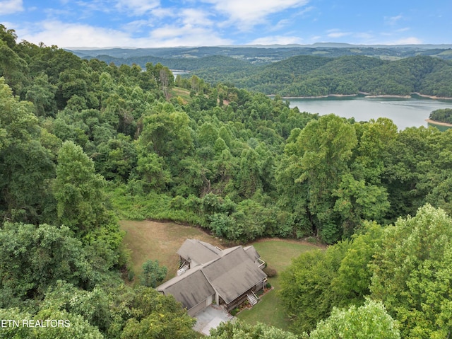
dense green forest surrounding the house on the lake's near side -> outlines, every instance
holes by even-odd
[[[118,217],[184,222],[230,243],[332,244],[284,274],[294,338],[347,323],[393,335],[374,338],[451,334],[451,131],[319,117],[280,96],[174,81],[162,64],[116,66],[16,39],[0,26],[0,313],[69,319],[71,330],[9,327],[0,338],[195,337],[174,298],[124,286]],[[450,67],[309,60],[304,71],[346,61],[362,74],[418,62],[432,88],[424,60]],[[450,86],[442,74],[439,88]],[[240,323],[215,335],[234,333],[292,335]]]

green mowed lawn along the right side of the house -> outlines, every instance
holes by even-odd
[[[303,252],[313,251],[321,247],[312,245],[305,241],[285,239],[265,239],[252,243],[268,266],[274,268],[278,275],[268,278],[273,289],[261,297],[252,309],[245,309],[237,314],[237,318],[248,323],[266,323],[287,330],[289,321],[285,317],[283,304],[278,298],[280,290],[280,272]]]

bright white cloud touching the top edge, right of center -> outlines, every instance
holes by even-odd
[[[309,0],[201,0],[213,4],[219,14],[225,13],[230,23],[237,23],[241,29],[249,29],[265,22],[268,15],[288,8],[305,6]]]

